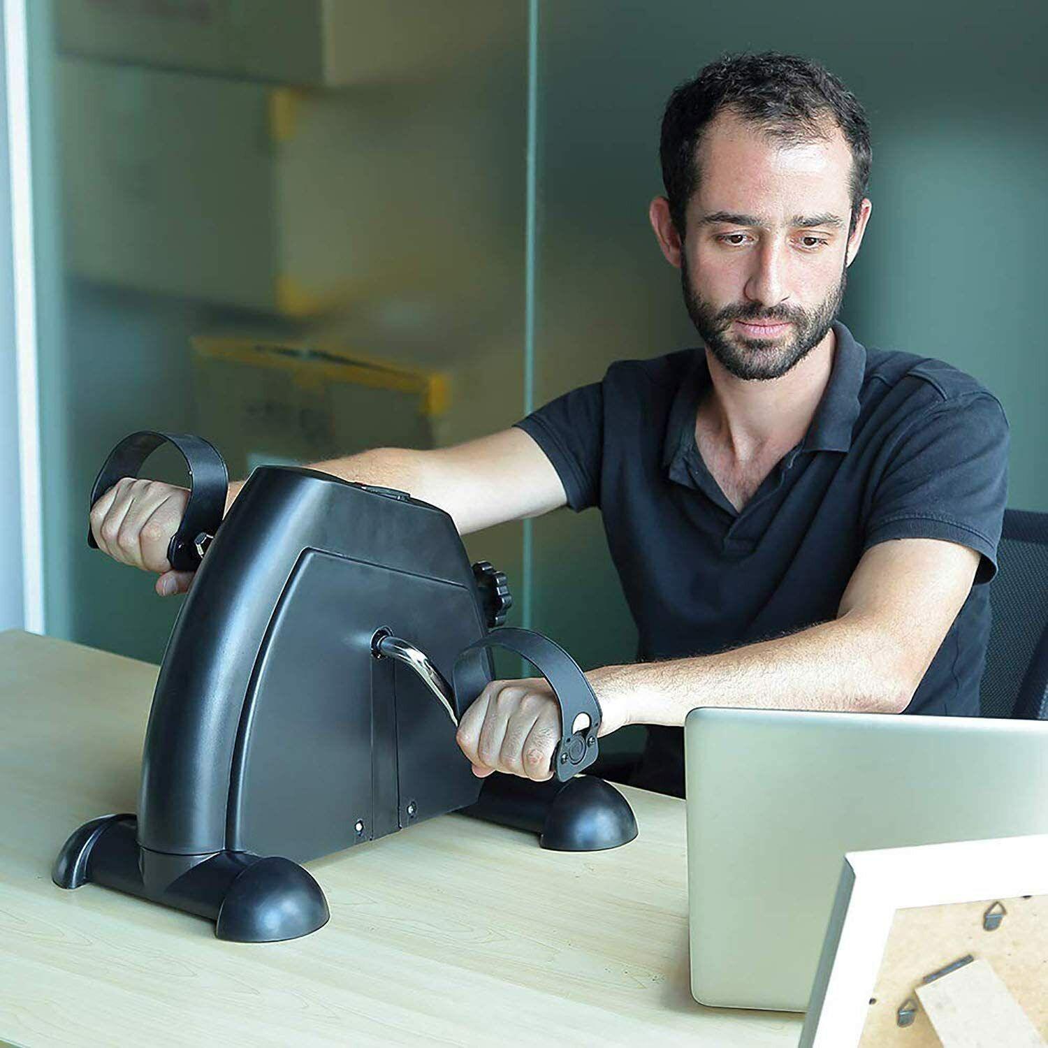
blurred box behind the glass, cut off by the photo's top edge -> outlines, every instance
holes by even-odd
[[[342,87],[415,77],[497,45],[490,0],[54,0],[61,51],[123,63]]]

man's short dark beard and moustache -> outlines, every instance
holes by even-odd
[[[683,253],[680,257],[680,282],[687,315],[705,347],[724,369],[737,378],[766,380],[786,374],[826,337],[844,301],[848,266],[842,268],[837,286],[812,310],[786,306],[762,310],[756,304],[716,309],[693,288],[687,257]],[[747,339],[735,327],[737,320],[751,323],[787,321],[793,326],[786,335],[778,339]],[[780,341],[784,337],[790,341],[784,344]]]

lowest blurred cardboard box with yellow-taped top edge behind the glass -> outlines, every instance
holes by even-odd
[[[449,407],[440,372],[304,344],[201,335],[192,342],[196,432],[231,478],[369,447],[433,447]]]

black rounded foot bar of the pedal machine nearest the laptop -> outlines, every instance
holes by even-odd
[[[462,814],[530,830],[543,848],[553,851],[604,851],[637,835],[629,802],[595,776],[537,783],[495,772],[484,782],[480,800]]]

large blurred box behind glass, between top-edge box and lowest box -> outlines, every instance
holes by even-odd
[[[62,59],[69,268],[307,318],[512,266],[523,170],[476,85],[297,88]]]

